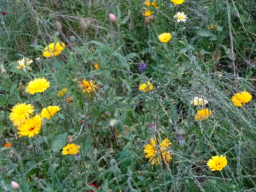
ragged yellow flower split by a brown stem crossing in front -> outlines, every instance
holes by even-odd
[[[162,141],[162,143],[159,144],[159,147],[158,147],[159,148],[158,152],[161,153],[166,163],[170,163],[172,159],[171,157],[172,154],[167,151],[168,148],[170,148],[170,145],[172,145],[172,143],[170,143],[169,139],[166,138],[165,140]],[[159,165],[161,163],[161,155],[157,154],[157,145],[154,140],[151,139],[150,144],[147,144],[144,147],[144,152],[146,154],[146,158],[149,158],[151,164]]]

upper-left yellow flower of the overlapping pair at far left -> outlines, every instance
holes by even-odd
[[[18,126],[28,119],[31,114],[33,114],[34,107],[31,104],[26,105],[26,103],[17,104],[11,109],[10,120],[13,121],[13,124]]]

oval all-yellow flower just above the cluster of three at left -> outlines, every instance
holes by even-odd
[[[34,79],[28,83],[28,86],[26,86],[26,92],[33,95],[34,93],[44,92],[49,86],[50,83],[45,78]]]

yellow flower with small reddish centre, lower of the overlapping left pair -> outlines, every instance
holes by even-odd
[[[19,137],[28,136],[32,138],[36,136],[41,130],[42,118],[40,115],[35,115],[33,118],[25,120],[23,124],[18,126]]]

